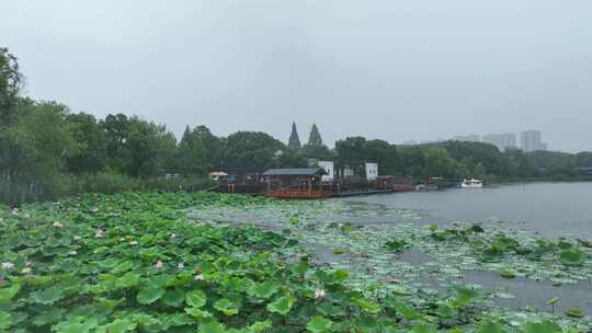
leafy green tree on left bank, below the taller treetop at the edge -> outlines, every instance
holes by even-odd
[[[11,126],[0,130],[0,199],[21,203],[60,194],[66,159],[79,150],[66,116],[54,102],[20,100]]]

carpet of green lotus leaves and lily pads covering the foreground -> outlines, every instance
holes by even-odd
[[[519,295],[496,286],[533,282],[585,295],[589,240],[421,219],[414,211],[333,200],[182,193],[0,208],[0,332],[592,326],[585,305],[555,294],[540,307],[504,303],[499,300]],[[478,274],[493,283],[475,283]]]

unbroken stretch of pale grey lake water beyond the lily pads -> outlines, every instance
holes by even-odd
[[[592,237],[592,183],[531,183],[340,198],[422,213],[426,222],[504,221],[539,237]]]

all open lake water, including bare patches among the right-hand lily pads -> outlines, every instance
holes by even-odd
[[[455,221],[500,223],[536,237],[568,236],[592,240],[592,183],[531,183],[485,188],[458,188],[340,198],[352,205],[410,209],[420,213],[424,223],[449,225]],[[431,259],[421,253],[401,257],[413,264]],[[545,301],[559,297],[558,311],[582,309],[592,313],[592,285],[554,286],[526,278],[504,279],[492,272],[465,272],[465,283],[477,283],[486,289],[503,288],[516,296],[498,299],[504,307],[525,305],[548,310]],[[436,284],[434,284],[435,286]]]

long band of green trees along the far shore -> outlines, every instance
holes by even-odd
[[[380,174],[468,175],[490,179],[571,179],[592,166],[592,153],[499,151],[480,142],[446,141],[396,146],[348,137],[333,149],[312,126],[300,145],[296,124],[288,143],[260,131],[228,137],[206,126],[186,127],[178,141],[164,125],[125,114],[99,119],[68,106],[19,94],[22,74],[16,57],[0,48],[0,202],[50,199],[82,192],[198,190],[213,170],[263,171],[300,168],[333,160],[338,168],[363,173],[364,161]],[[170,180],[168,174],[179,174]]]

